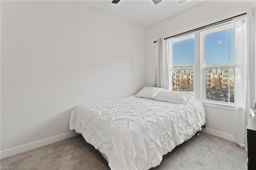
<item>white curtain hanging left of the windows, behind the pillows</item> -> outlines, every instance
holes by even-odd
[[[167,56],[166,41],[164,38],[156,40],[156,87],[169,88],[169,61]]]

